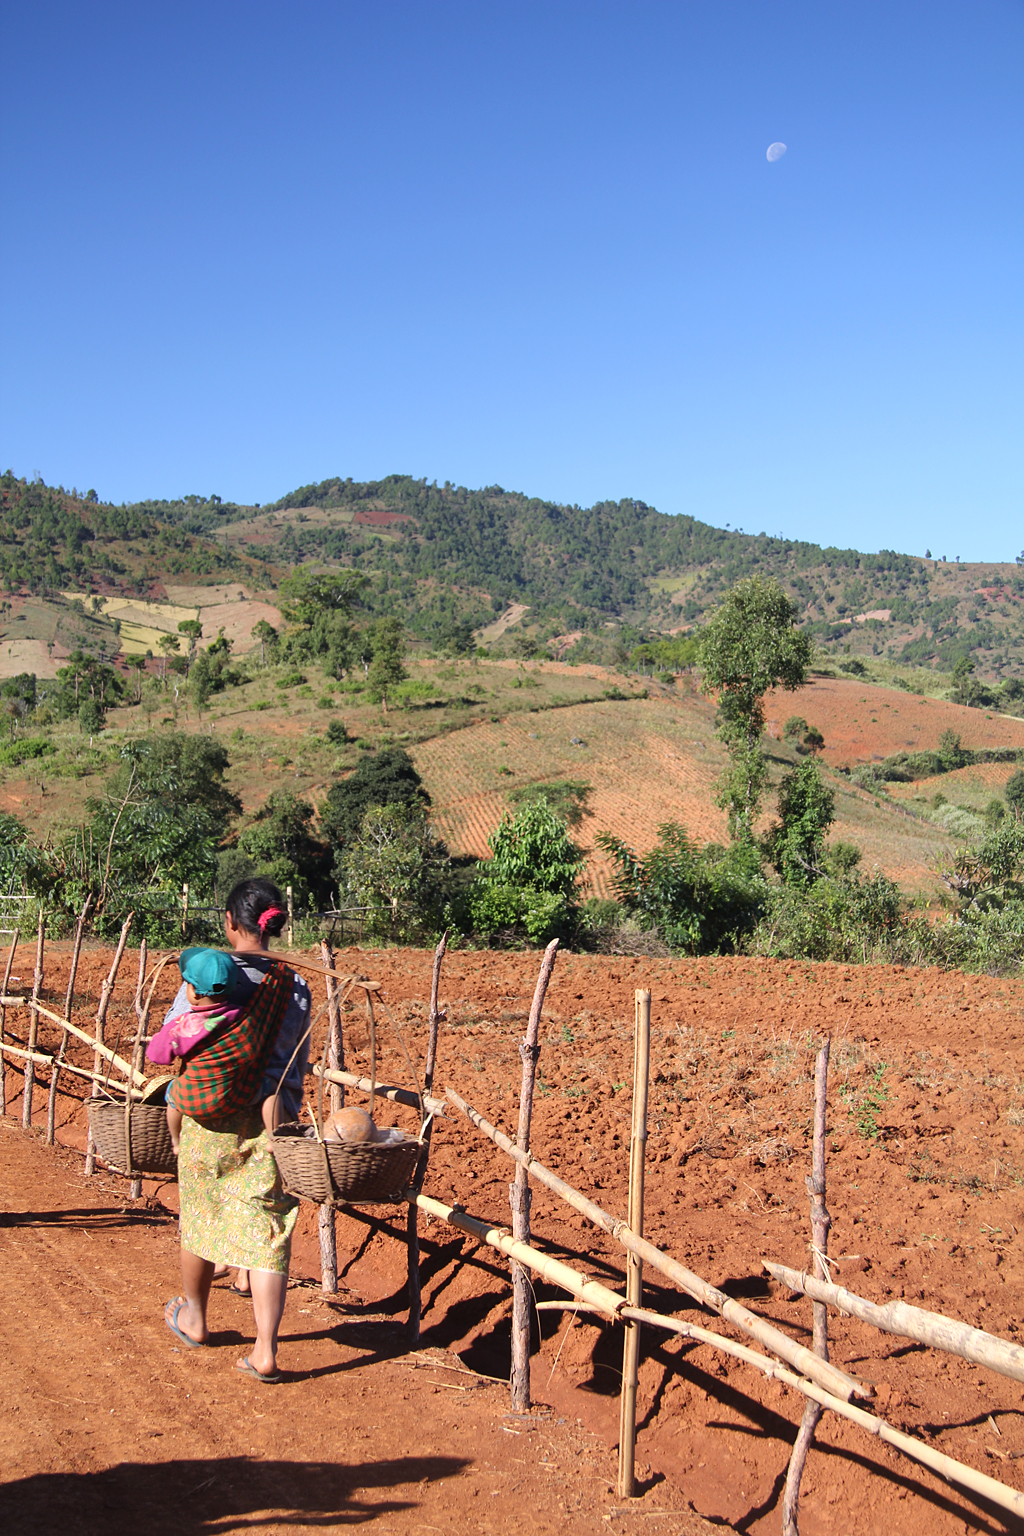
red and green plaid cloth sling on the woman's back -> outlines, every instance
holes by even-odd
[[[167,1103],[192,1120],[218,1120],[247,1109],[264,1074],[292,997],[292,972],[275,963],[243,1017],[212,1034],[167,1087]]]

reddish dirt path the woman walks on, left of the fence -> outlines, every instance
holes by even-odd
[[[614,1456],[600,1441],[550,1410],[510,1418],[507,1392],[444,1350],[402,1356],[393,1309],[296,1286],[276,1389],[233,1370],[252,1313],[227,1290],[213,1347],[178,1347],[161,1321],[173,1218],[126,1209],[112,1178],[80,1169],[0,1121],[0,1528],[605,1528]],[[665,1508],[663,1490],[648,1502]],[[674,1530],[709,1530],[674,1507]],[[622,1528],[634,1524],[649,1522]]]

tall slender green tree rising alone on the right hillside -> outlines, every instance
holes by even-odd
[[[765,576],[737,582],[700,636],[702,687],[718,694],[718,734],[732,759],[717,796],[732,837],[752,837],[765,793],[765,694],[806,682],[812,654],[811,637],[797,628],[795,607]]]

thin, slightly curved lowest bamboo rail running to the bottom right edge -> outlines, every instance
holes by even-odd
[[[602,1307],[594,1304],[580,1304],[577,1301],[539,1301],[539,1310],[554,1312],[556,1309],[574,1312],[602,1312]],[[869,1435],[875,1435],[886,1445],[892,1445],[895,1450],[909,1456],[912,1461],[921,1462],[923,1467],[929,1467],[930,1471],[946,1478],[949,1482],[958,1484],[961,1488],[967,1488],[970,1493],[976,1493],[983,1499],[989,1499],[1003,1510],[1010,1510],[1013,1514],[1024,1514],[1024,1493],[1018,1493],[1016,1488],[1007,1488],[1004,1482],[996,1482],[995,1478],[989,1478],[984,1471],[975,1471],[973,1467],[966,1467],[961,1461],[955,1461],[952,1456],[944,1456],[938,1450],[932,1450],[923,1441],[913,1439],[912,1435],[904,1435],[901,1430],[895,1430],[884,1419],[875,1418],[874,1413],[867,1413],[864,1409],[855,1407],[852,1402],[846,1402],[843,1398],[835,1398],[832,1393],[824,1392],[821,1387],[801,1376],[795,1376],[785,1366],[778,1366],[774,1359],[768,1359],[766,1355],[758,1355],[755,1350],[748,1349],[746,1344],[737,1344],[732,1339],[723,1338],[720,1333],[711,1333],[708,1329],[697,1327],[695,1322],[683,1322],[680,1318],[665,1318],[660,1312],[646,1312],[640,1307],[622,1307],[620,1315],[623,1318],[636,1318],[639,1322],[649,1322],[651,1327],[666,1329],[671,1333],[679,1333],[682,1338],[691,1338],[697,1344],[709,1344],[712,1349],[722,1350],[725,1355],[732,1355],[735,1359],[746,1361],[748,1366],[754,1366],[765,1376],[772,1381],[781,1381],[783,1385],[792,1387],[794,1392],[801,1392],[804,1398],[812,1398],[823,1409],[831,1409],[840,1418],[851,1419],[858,1424]]]

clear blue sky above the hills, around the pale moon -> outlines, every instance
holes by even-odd
[[[3,467],[1024,545],[1019,3],[8,0],[0,45]]]

